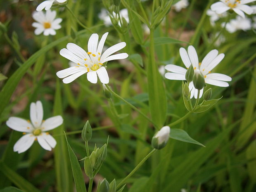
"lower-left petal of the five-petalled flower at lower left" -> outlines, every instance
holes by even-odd
[[[13,151],[18,153],[25,152],[29,147],[31,147],[35,138],[36,137],[32,134],[26,134],[22,136],[13,146]]]

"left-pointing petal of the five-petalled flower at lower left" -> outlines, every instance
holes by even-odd
[[[31,133],[33,130],[33,126],[28,121],[21,119],[19,117],[10,117],[8,121],[6,121],[6,125],[19,132]]]

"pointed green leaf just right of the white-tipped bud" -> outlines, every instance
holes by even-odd
[[[193,143],[196,145],[201,145],[205,147],[203,144],[199,143],[198,141],[192,139],[185,130],[182,129],[171,129],[170,131],[170,138],[187,142],[187,143]]]

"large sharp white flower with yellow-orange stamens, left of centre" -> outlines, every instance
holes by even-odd
[[[97,83],[97,76],[99,76],[102,83],[109,83],[107,70],[102,65],[111,60],[125,59],[128,57],[128,54],[120,53],[112,55],[113,53],[123,49],[123,47],[126,46],[125,42],[113,45],[102,53],[107,35],[108,33],[104,33],[99,45],[97,45],[99,36],[98,34],[93,33],[88,41],[88,52],[74,43],[68,43],[66,48],[60,50],[60,55],[77,64],[77,66],[69,67],[68,69],[64,69],[56,73],[59,78],[64,78],[63,83],[70,83],[85,73],[87,73],[87,79],[91,83]]]

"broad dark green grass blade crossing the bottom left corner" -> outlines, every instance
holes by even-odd
[[[24,190],[26,192],[40,192],[34,185],[29,183],[26,179],[21,177],[19,174],[17,174],[15,171],[13,171],[11,168],[5,165],[5,163],[0,162],[0,171],[14,183],[17,185],[17,187],[21,188],[21,190]]]

